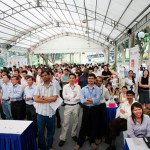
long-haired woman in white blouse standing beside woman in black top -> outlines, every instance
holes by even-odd
[[[136,92],[136,83],[132,70],[129,70],[128,77],[125,78],[125,85],[127,86],[128,90],[132,90],[134,93]]]

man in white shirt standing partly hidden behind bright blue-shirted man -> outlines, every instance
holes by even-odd
[[[106,120],[106,101],[109,100],[110,94],[108,92],[108,89],[103,85],[103,78],[102,77],[97,77],[96,80],[96,85],[100,88],[101,93],[102,93],[102,99],[101,103],[99,105],[99,128],[97,131],[97,139],[96,139],[96,144],[100,144],[102,141],[102,138],[105,134],[105,120]]]

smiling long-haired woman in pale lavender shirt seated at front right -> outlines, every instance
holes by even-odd
[[[129,138],[150,137],[150,118],[143,114],[143,107],[135,102],[131,106],[131,116],[127,120]]]

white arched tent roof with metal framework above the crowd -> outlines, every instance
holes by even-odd
[[[149,0],[1,0],[0,43],[34,49],[71,34],[107,47],[149,12]]]

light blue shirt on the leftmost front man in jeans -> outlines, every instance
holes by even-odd
[[[13,85],[11,82],[8,82],[7,84],[6,83],[2,84],[2,99],[4,99],[4,100],[9,99],[12,86]]]

